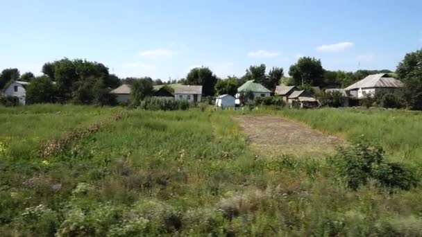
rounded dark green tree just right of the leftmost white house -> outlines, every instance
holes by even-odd
[[[33,78],[26,87],[26,103],[54,103],[56,102],[56,87],[48,76]]]

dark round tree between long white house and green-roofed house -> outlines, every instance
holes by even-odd
[[[202,85],[202,93],[205,96],[214,95],[214,86],[217,76],[208,67],[196,67],[187,73],[185,85]]]

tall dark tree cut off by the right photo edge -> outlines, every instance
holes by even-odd
[[[411,109],[422,110],[422,49],[407,53],[396,73],[405,84],[404,94]]]

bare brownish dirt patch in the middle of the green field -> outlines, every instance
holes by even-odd
[[[278,116],[235,116],[240,128],[260,155],[321,157],[334,152],[344,143],[337,137]]]

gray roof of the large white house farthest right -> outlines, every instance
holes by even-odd
[[[345,88],[346,91],[360,88],[371,88],[371,87],[389,87],[398,88],[403,87],[403,83],[396,78],[389,78],[387,73],[378,73],[369,75],[366,78],[348,86]]]

